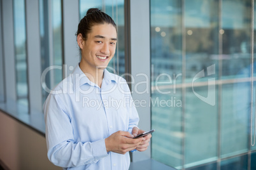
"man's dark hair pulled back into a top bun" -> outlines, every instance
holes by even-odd
[[[82,34],[83,39],[86,40],[87,34],[89,34],[89,32],[92,30],[92,26],[104,23],[110,23],[117,30],[117,25],[109,15],[99,10],[98,8],[90,8],[78,24],[76,37],[78,34]]]

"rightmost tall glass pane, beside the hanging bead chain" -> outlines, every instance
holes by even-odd
[[[251,1],[222,1],[222,85],[221,156],[248,150],[248,115],[250,115],[250,22]],[[250,134],[249,134],[250,135]]]

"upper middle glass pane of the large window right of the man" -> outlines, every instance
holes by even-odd
[[[218,1],[185,1],[186,82],[215,65],[218,76]],[[198,79],[208,81],[208,77]]]

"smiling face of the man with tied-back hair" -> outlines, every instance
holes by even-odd
[[[115,55],[117,31],[108,23],[94,25],[91,30],[83,41],[81,62],[90,71],[105,69]]]

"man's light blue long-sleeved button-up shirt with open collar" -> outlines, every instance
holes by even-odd
[[[104,142],[138,125],[129,86],[106,69],[101,88],[87,76],[77,65],[45,101],[48,159],[64,169],[129,169],[129,152],[107,153]]]

